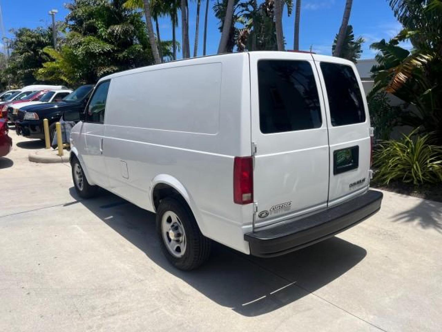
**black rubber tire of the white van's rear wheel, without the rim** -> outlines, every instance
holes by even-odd
[[[167,212],[173,212],[179,218],[185,233],[186,246],[182,257],[171,254],[163,237],[162,220]],[[166,217],[167,219],[167,217]],[[164,198],[156,212],[156,230],[161,249],[169,262],[179,270],[190,271],[201,266],[210,256],[211,241],[202,235],[195,217],[186,203],[176,197]],[[167,233],[164,230],[165,233]],[[165,235],[168,236],[168,235]],[[170,239],[170,237],[169,237]],[[171,242],[171,241],[170,241]]]

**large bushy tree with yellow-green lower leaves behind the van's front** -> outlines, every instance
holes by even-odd
[[[38,70],[41,80],[57,77],[69,85],[95,83],[100,77],[154,63],[142,14],[124,1],[75,0],[66,7],[66,38],[60,50],[44,53],[50,61]],[[171,56],[170,42],[162,51]]]

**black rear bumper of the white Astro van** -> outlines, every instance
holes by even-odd
[[[372,216],[381,208],[383,194],[369,190],[362,196],[303,219],[285,220],[278,225],[247,233],[251,255],[275,257],[328,239]]]

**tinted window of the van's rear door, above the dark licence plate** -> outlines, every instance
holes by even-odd
[[[333,126],[365,122],[361,90],[351,66],[321,62]]]

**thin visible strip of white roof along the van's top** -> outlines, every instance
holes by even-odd
[[[144,67],[140,67],[140,68],[135,68],[135,69],[129,69],[129,70],[125,70],[125,71],[121,71],[118,73],[113,73],[110,75],[107,75],[105,77],[102,77],[99,79],[99,82],[101,81],[106,81],[106,80],[110,80],[114,77],[119,77],[119,76],[123,76],[123,75],[130,75],[130,74],[135,74],[135,73],[142,73],[145,72],[147,70],[155,70],[155,69],[165,69],[165,68],[173,68],[175,66],[179,66],[176,65],[176,63],[181,63],[181,62],[194,62],[197,59],[202,59],[202,58],[217,58],[217,57],[240,57],[240,56],[244,56],[244,54],[262,54],[262,55],[269,55],[269,54],[279,54],[279,53],[283,53],[283,54],[287,54],[290,53],[290,55],[293,55],[293,58],[297,58],[298,54],[302,54],[303,56],[305,56],[305,53],[310,53],[310,52],[296,52],[296,51],[290,51],[290,52],[286,52],[286,51],[253,51],[253,52],[241,52],[241,53],[223,53],[223,54],[213,54],[213,55],[206,55],[206,56],[201,56],[201,57],[195,57],[195,58],[188,58],[188,59],[179,59],[179,60],[174,60],[174,61],[169,61],[169,62],[164,62],[164,63],[160,63],[157,65],[151,65],[151,66],[144,66]],[[311,53],[312,56],[314,53]],[[317,55],[315,55],[316,57],[318,57]],[[301,56],[300,56],[301,58]],[[325,55],[320,55],[320,58],[324,58],[324,59],[328,59],[328,60],[332,60],[335,59],[337,60],[338,58],[332,57],[332,56],[325,56]],[[347,60],[339,58],[339,62],[345,61],[347,62]],[[348,61],[349,63],[352,63],[350,61]],[[152,69],[155,68],[155,69]]]

